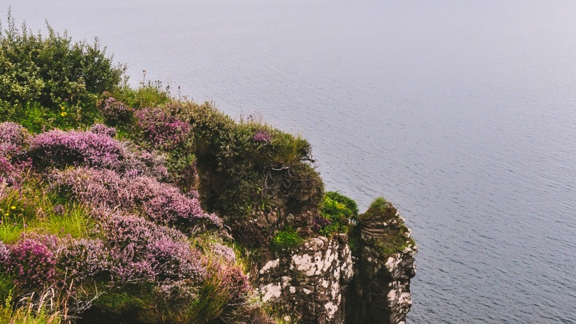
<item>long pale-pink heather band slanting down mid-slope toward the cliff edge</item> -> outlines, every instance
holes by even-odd
[[[131,210],[140,208],[158,223],[221,226],[215,214],[207,214],[197,198],[184,195],[172,184],[151,177],[121,177],[112,170],[73,168],[52,174],[54,184],[77,200],[94,206]]]

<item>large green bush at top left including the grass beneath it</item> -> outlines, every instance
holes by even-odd
[[[112,64],[105,48],[76,42],[47,25],[48,35],[32,34],[26,24],[15,26],[8,13],[7,28],[0,25],[0,112],[2,120],[31,121],[31,130],[71,128],[94,122],[96,98],[119,87],[125,67]]]

